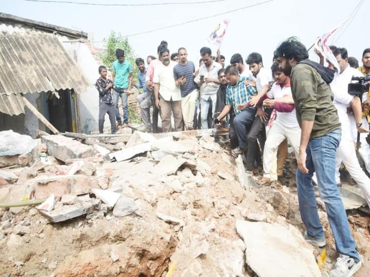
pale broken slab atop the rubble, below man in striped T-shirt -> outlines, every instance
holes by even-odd
[[[172,155],[165,156],[157,165],[155,165],[152,169],[150,169],[150,173],[157,174],[157,175],[171,175],[175,174],[177,169],[181,165],[189,166],[192,168],[196,167],[196,163],[185,160],[183,158],[176,158]]]

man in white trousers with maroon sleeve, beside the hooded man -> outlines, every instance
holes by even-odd
[[[301,130],[296,118],[290,77],[279,69],[278,62],[272,64],[271,70],[276,82],[267,92],[267,99],[263,101],[263,105],[265,108],[276,110],[276,119],[273,121],[266,139],[263,152],[264,178],[261,181],[277,185],[277,149],[280,143],[287,138],[296,157],[298,157]]]

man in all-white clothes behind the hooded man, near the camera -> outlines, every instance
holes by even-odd
[[[348,64],[348,54],[345,48],[336,48],[333,51],[335,58],[340,67],[340,73],[334,75],[333,81],[330,83],[330,88],[334,93],[333,103],[338,110],[339,121],[342,123],[342,139],[337,148],[336,153],[336,183],[340,183],[339,167],[341,162],[344,163],[345,168],[349,174],[360,186],[361,191],[370,206],[370,179],[366,176],[365,172],[361,169],[360,164],[356,157],[356,150],[354,141],[351,134],[351,126],[349,117],[354,117],[356,122],[361,122],[362,108],[360,98],[348,94],[348,84],[351,82],[352,76],[361,77],[360,71],[353,69]],[[353,115],[347,114],[347,107],[351,105]],[[360,125],[360,124],[358,124]],[[369,133],[370,131],[363,125],[356,128],[360,133]]]

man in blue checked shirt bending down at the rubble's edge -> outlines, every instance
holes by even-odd
[[[226,105],[217,119],[221,120],[230,112],[231,107],[234,108],[233,127],[239,146],[233,149],[231,154],[237,157],[247,150],[247,127],[252,125],[256,114],[256,109],[248,106],[247,102],[257,91],[252,86],[244,85],[244,81],[249,80],[249,78],[240,76],[236,67],[228,66],[225,69],[225,75],[228,83],[226,87]]]

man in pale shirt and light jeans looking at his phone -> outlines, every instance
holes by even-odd
[[[209,47],[200,49],[200,56],[204,65],[199,68],[199,81],[197,85],[200,88],[200,120],[201,128],[208,129],[207,115],[209,105],[212,105],[212,118],[215,115],[217,91],[220,87],[218,72],[222,66],[212,60],[212,51]]]

